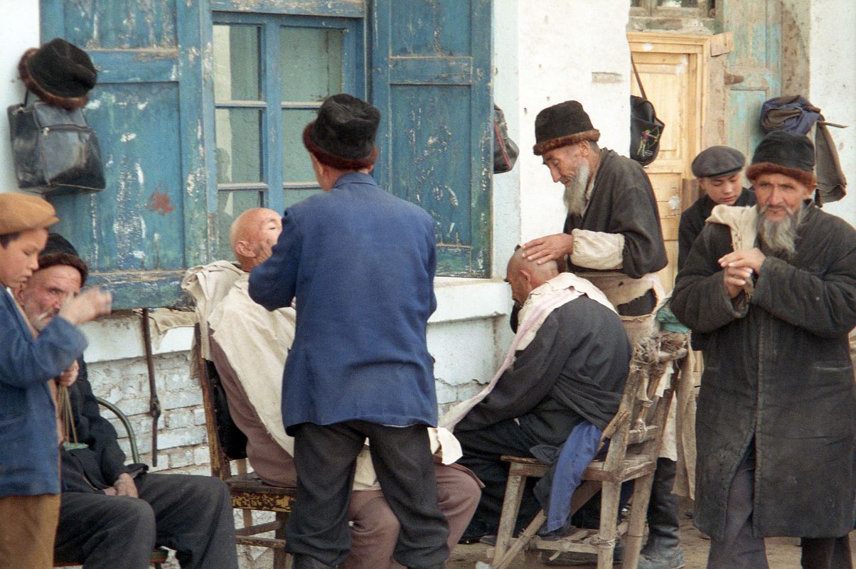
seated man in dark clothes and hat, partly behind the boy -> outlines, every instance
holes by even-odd
[[[39,270],[16,295],[37,331],[80,292],[87,273],[71,243],[51,233]],[[152,549],[164,546],[175,549],[184,569],[237,569],[226,485],[211,476],[146,474],[145,464],[126,465],[116,429],[98,412],[82,359],[68,398],[74,431],[65,434],[70,440],[60,451],[55,559],[78,561],[84,569],[145,569]]]

